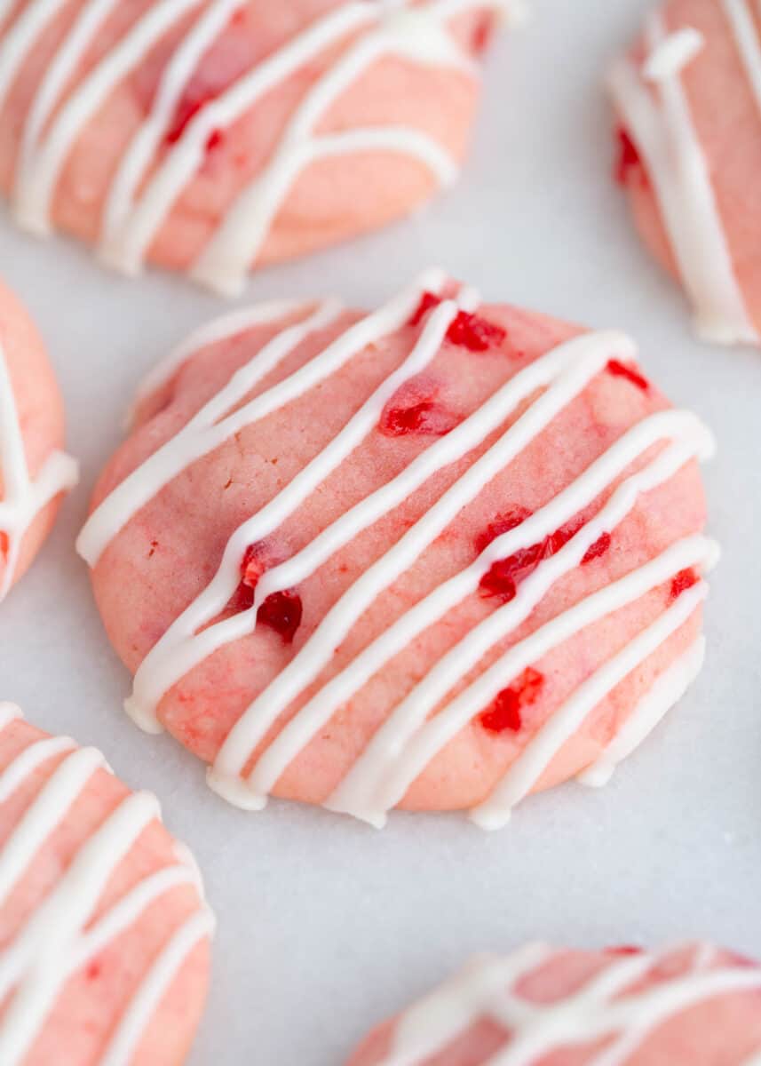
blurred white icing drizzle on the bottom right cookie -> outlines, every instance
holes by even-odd
[[[524,999],[517,989],[548,964],[557,960],[560,966],[560,953],[529,944],[505,958],[474,962],[402,1015],[378,1066],[420,1066],[483,1018],[511,1035],[502,1050],[482,1060],[482,1066],[532,1066],[563,1048],[603,1039],[609,1043],[595,1055],[594,1066],[624,1066],[660,1027],[682,1013],[761,988],[760,969],[706,967],[697,954],[683,975],[632,990],[674,955],[643,952],[612,958],[581,988],[549,1003]]]

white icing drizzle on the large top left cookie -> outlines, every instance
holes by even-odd
[[[514,10],[508,0],[430,0],[421,5],[410,0],[389,4],[345,0],[244,71],[209,101],[188,123],[177,143],[164,151],[177,106],[204,55],[244,6],[245,0],[210,0],[206,4],[201,0],[160,0],[66,97],[70,76],[116,7],[116,0],[88,0],[67,31],[30,108],[13,197],[19,223],[38,233],[50,231],[61,173],[87,123],[150,50],[200,10],[167,63],[150,110],[127,145],[108,192],[101,256],[126,273],[136,273],[198,172],[209,138],[232,126],[298,69],[345,42],[344,50],[289,119],[270,161],[231,205],[192,265],[192,275],[203,284],[234,293],[256,263],[294,182],[313,162],[337,155],[394,152],[419,161],[440,184],[452,183],[456,161],[423,130],[388,125],[321,133],[320,127],[342,94],[387,56],[477,77],[476,65],[451,32],[451,21],[476,9],[492,9],[505,16],[518,15],[520,10],[518,4]],[[31,0],[6,29],[0,45],[0,107],[41,35],[65,7],[66,0]]]

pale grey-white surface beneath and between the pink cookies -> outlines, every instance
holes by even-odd
[[[123,716],[128,677],[72,540],[136,382],[224,308],[181,279],[112,277],[84,251],[36,243],[0,217],[0,269],[49,344],[83,464],[50,543],[0,610],[0,697],[102,747],[193,846],[220,928],[192,1066],[339,1066],[374,1021],[467,955],[528,938],[702,935],[761,956],[761,353],[692,340],[680,294],[610,180],[600,75],[647,6],[536,0],[532,25],[491,55],[459,188],[411,223],[249,287],[254,300],[335,292],[373,307],[441,263],[489,298],[632,332],[646,372],[716,431],[706,478],[725,555],[703,675],[606,790],[529,801],[501,834],[458,817],[398,814],[377,834],[293,805],[244,814],[207,791],[172,740]]]

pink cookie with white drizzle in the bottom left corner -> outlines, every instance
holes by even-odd
[[[0,704],[0,1062],[178,1066],[212,924],[156,797]]]

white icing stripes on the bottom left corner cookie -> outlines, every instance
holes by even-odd
[[[0,730],[20,718],[19,709],[0,705]],[[4,803],[48,760],[63,755],[0,850],[0,906],[30,863],[68,815],[93,775],[106,769],[95,748],[77,748],[68,738],[45,738],[23,748],[0,773]],[[16,1066],[26,1060],[69,976],[120,933],[140,920],[151,903],[181,885],[200,887],[195,863],[184,860],[144,877],[94,924],[98,901],[122,860],[143,830],[160,818],[149,793],[128,795],[80,846],[47,898],[27,918],[0,958],[0,1060]],[[201,894],[203,899],[203,894]],[[168,939],[141,980],[110,1043],[109,1066],[128,1066],[145,1029],[193,947],[213,930],[205,904]]]

